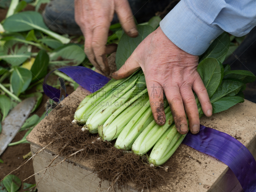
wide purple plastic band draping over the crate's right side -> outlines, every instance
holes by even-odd
[[[251,152],[234,137],[200,125],[199,133],[193,135],[188,132],[182,143],[228,165],[244,192],[256,191],[256,161]]]

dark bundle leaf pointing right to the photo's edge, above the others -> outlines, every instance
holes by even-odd
[[[227,78],[239,79],[244,84],[252,83],[253,81],[255,81],[255,75],[253,75],[253,73],[251,71],[246,71],[246,70],[227,71],[224,73],[223,78],[224,79],[227,79]]]

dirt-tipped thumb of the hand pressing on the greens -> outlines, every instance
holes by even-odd
[[[115,73],[112,73],[114,79],[122,79],[132,75],[137,69],[140,68],[137,60],[134,59],[134,54],[132,54],[124,63],[124,65]]]

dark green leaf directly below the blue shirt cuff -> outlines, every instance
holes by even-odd
[[[199,56],[199,63],[205,58],[212,57],[219,60],[221,63],[225,60],[225,56],[228,52],[230,39],[227,33],[222,33],[218,36],[208,49]]]

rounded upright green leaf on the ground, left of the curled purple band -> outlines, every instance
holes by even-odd
[[[32,80],[32,74],[25,68],[14,68],[11,75],[12,90],[15,95],[24,92]]]

